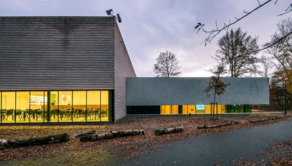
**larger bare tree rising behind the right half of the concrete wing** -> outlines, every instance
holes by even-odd
[[[231,29],[218,40],[219,50],[216,51],[214,59],[218,66],[228,66],[228,73],[231,77],[240,77],[246,73],[256,73],[257,57],[250,53],[258,49],[257,37],[253,38],[242,32],[241,28]]]

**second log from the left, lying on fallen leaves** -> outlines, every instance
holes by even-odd
[[[104,140],[110,138],[124,137],[124,136],[136,136],[145,135],[144,130],[120,130],[120,131],[110,131],[109,133],[99,133],[99,134],[79,134],[79,140],[81,142]]]

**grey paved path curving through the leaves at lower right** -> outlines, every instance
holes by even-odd
[[[119,165],[233,165],[233,160],[253,159],[276,142],[291,140],[292,120],[202,135],[174,142],[170,147]],[[255,158],[254,158],[255,159]]]

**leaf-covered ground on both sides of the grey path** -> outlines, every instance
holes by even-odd
[[[48,136],[57,133],[68,133],[70,141],[51,145],[39,145],[30,147],[17,147],[0,149],[0,165],[90,165],[99,163],[107,165],[110,160],[128,160],[153,151],[159,151],[175,140],[184,140],[199,134],[210,134],[215,132],[230,131],[242,127],[254,127],[257,125],[271,124],[286,120],[287,117],[272,120],[282,116],[281,114],[244,114],[244,115],[220,115],[217,120],[211,120],[210,115],[192,116],[126,116],[115,124],[99,125],[58,125],[58,126],[0,126],[0,139],[21,140],[27,138]],[[251,120],[262,120],[263,122],[250,122]],[[202,125],[225,124],[226,122],[240,122],[213,129],[197,129]],[[184,127],[183,132],[169,133],[155,136],[155,129],[170,127]],[[144,129],[145,135],[113,138],[95,142],[80,142],[76,136],[95,130],[97,133],[125,129]],[[266,154],[275,157],[270,160],[269,165],[291,165],[291,142],[279,142],[278,145],[266,149],[265,154],[257,154],[259,157]],[[288,151],[288,156],[282,156],[282,151]],[[267,156],[264,156],[267,158]],[[268,157],[269,158],[269,157]],[[234,165],[253,165],[252,160],[234,161]]]

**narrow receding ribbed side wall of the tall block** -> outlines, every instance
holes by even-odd
[[[126,116],[126,77],[136,77],[136,74],[115,24],[115,120]]]

